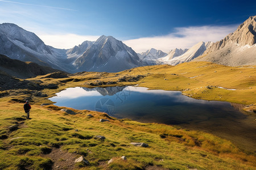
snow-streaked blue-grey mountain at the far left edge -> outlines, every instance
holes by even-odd
[[[20,61],[32,61],[54,69],[63,68],[65,58],[55,53],[32,32],[11,23],[0,24],[0,54]]]

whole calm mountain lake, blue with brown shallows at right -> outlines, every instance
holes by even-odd
[[[179,91],[147,90],[134,86],[75,87],[56,95],[49,100],[56,102],[57,106],[105,112],[139,122],[204,130],[238,145],[247,143],[245,147],[253,145],[256,148],[255,123],[228,102],[197,100],[183,96]]]

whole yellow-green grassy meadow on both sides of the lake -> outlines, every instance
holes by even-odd
[[[146,75],[137,82],[117,82],[123,76]],[[199,130],[163,124],[143,124],[118,120],[105,113],[78,111],[70,115],[64,107],[47,105],[48,97],[68,87],[93,87],[89,83],[115,81],[106,86],[139,84],[150,89],[177,90],[195,99],[229,101],[242,105],[255,117],[256,70],[254,67],[228,67],[209,62],[177,66],[138,67],[120,73],[81,73],[69,78],[44,78],[40,84],[54,83],[57,89],[44,89],[47,97],[32,90],[8,90],[0,98],[0,169],[255,169],[255,148],[245,152],[232,142]],[[236,90],[226,90],[236,89]],[[31,120],[24,119],[23,101],[30,97]],[[71,109],[71,108],[69,108]],[[92,114],[93,117],[88,117]],[[110,122],[99,122],[100,118]],[[255,121],[252,122],[255,124]],[[8,127],[18,125],[10,131]],[[105,140],[94,138],[103,135]],[[135,147],[144,142],[149,147]],[[59,153],[59,154],[55,154]],[[52,154],[50,156],[50,154]],[[70,154],[72,161],[61,154]],[[90,165],[75,164],[84,156]],[[120,159],[126,156],[127,160]],[[55,161],[53,161],[53,158]],[[110,159],[114,162],[108,164]],[[69,164],[67,164],[69,163]],[[59,166],[59,167],[56,167]]]

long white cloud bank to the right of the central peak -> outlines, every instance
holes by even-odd
[[[166,36],[142,37],[123,42],[137,53],[145,52],[150,48],[169,52],[175,48],[190,48],[200,41],[220,41],[229,33],[234,32],[237,27],[238,25],[182,27],[175,28],[174,33]]]

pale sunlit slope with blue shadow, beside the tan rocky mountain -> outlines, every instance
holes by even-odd
[[[160,58],[159,61],[161,61],[163,63],[167,63],[168,65],[177,65],[177,64],[183,63],[183,62],[189,62],[192,59],[203,54],[209,44],[211,44],[211,42],[207,42],[207,44],[205,44],[205,42],[201,41],[201,42],[197,43],[196,45],[192,46],[191,48],[189,48],[187,50],[187,52],[185,52],[181,56],[178,56],[178,57],[175,57],[172,59]]]

